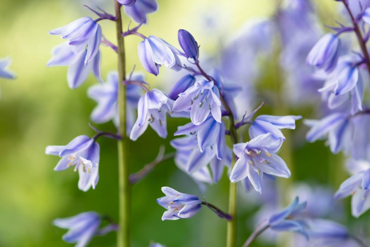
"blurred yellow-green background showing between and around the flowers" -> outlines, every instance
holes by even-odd
[[[91,189],[87,193],[78,190],[77,173],[72,170],[53,171],[58,157],[44,154],[47,145],[62,145],[75,136],[94,134],[88,122],[95,103],[88,99],[86,90],[96,83],[94,77],[90,76],[83,86],[71,90],[67,86],[66,67],[46,67],[52,48],[62,42],[59,37],[49,35],[48,30],[81,16],[92,16],[90,11],[81,7],[83,4],[93,7],[98,3],[112,12],[112,2],[1,0],[0,57],[11,57],[11,69],[16,72],[17,79],[0,79],[0,246],[72,246],[61,240],[65,230],[52,226],[54,218],[95,210],[117,219],[115,141],[104,138],[99,140],[100,181],[95,190]],[[155,34],[171,44],[177,44],[177,30],[186,29],[196,37],[202,51],[208,53],[216,52],[217,37],[227,37],[246,20],[272,15],[274,10],[271,0],[158,0],[158,3],[159,10],[149,16],[149,24],[142,27],[142,33]],[[333,4],[327,0],[320,8],[333,8]],[[218,34],[203,29],[206,27],[207,16],[216,20]],[[125,17],[124,21],[126,26],[128,18]],[[100,24],[104,35],[114,41],[114,24],[110,21],[101,21]],[[127,69],[131,70],[136,64],[137,69],[142,70],[137,56],[139,38],[129,37],[126,40]],[[101,51],[102,75],[105,78],[108,71],[116,69],[117,60],[109,48],[102,47]],[[266,69],[270,72],[263,74],[267,83],[275,78],[273,69],[270,69]],[[175,82],[168,79],[168,73],[162,68],[158,77],[147,74],[147,81],[152,87],[168,90]],[[279,109],[266,107],[262,112],[276,111]],[[313,112],[309,107],[287,111],[310,117]],[[148,128],[137,142],[132,142],[131,170],[138,171],[145,163],[153,160],[160,144],[166,145],[167,152],[172,151],[169,140],[173,138],[176,126],[184,123],[186,120],[169,120],[166,140]],[[115,131],[112,123],[98,127]],[[299,136],[285,144],[285,154],[282,155],[292,154],[292,157],[287,158],[290,159],[288,166],[293,171],[293,178],[280,184],[292,186],[294,181],[308,181],[328,184],[335,190],[347,177],[343,171],[342,157],[331,154],[323,142],[295,145],[294,140],[302,140],[305,130],[298,131],[296,135]],[[201,210],[188,220],[162,222],[164,208],[155,202],[155,199],[163,196],[160,190],[162,186],[202,196],[194,182],[179,171],[172,160],[160,164],[133,188],[132,246],[148,246],[151,241],[168,247],[224,246],[226,222],[210,210]],[[239,197],[243,198],[243,193],[245,191],[240,187]],[[226,174],[219,184],[208,186],[205,195],[207,201],[227,210]],[[248,217],[257,209],[248,206],[248,203],[243,199],[238,203],[240,245],[251,231],[252,222]],[[369,213],[366,213],[360,220],[366,221],[368,218]],[[352,220],[351,217],[345,217],[343,223],[348,225]],[[96,237],[90,246],[115,246],[115,234]]]

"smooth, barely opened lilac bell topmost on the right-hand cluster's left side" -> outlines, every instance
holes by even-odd
[[[307,63],[317,69],[332,71],[338,60],[340,39],[332,33],[325,34],[307,55]]]

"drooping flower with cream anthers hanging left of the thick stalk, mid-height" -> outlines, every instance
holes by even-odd
[[[77,136],[65,146],[47,146],[46,154],[61,157],[54,171],[63,171],[75,166],[80,179],[78,188],[87,191],[95,189],[99,181],[100,146],[88,136]]]

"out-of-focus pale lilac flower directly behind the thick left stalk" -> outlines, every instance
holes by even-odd
[[[144,80],[141,74],[134,74],[131,78],[134,81]],[[127,133],[131,131],[135,123],[138,101],[141,96],[141,89],[137,85],[128,84],[126,86],[126,124]],[[107,75],[107,82],[91,86],[87,95],[97,102],[97,106],[92,110],[90,119],[95,123],[106,123],[113,120],[118,126],[118,74],[116,71]]]

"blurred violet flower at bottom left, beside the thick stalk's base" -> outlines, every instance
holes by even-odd
[[[57,218],[53,224],[68,229],[62,239],[67,243],[76,243],[75,247],[87,246],[94,236],[102,236],[110,231],[117,231],[118,226],[109,224],[101,229],[102,216],[94,211],[84,212],[68,218]]]

